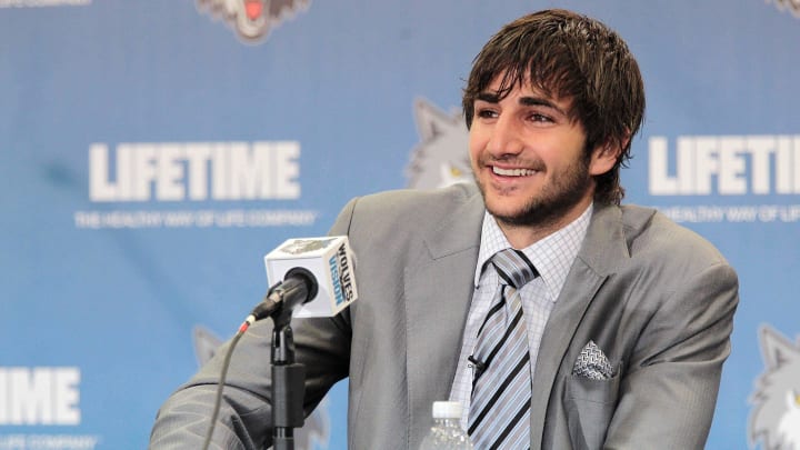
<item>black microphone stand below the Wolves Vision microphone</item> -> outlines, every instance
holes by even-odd
[[[280,308],[271,317],[272,329],[272,448],[294,449],[294,428],[303,426],[306,367],[294,361],[294,340],[290,326],[292,311]]]

